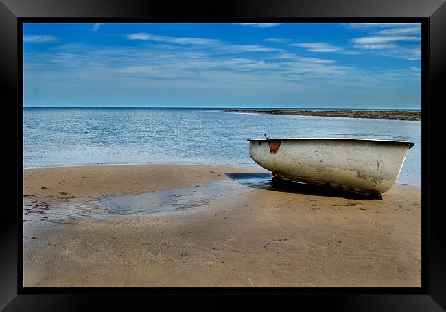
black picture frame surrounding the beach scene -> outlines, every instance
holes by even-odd
[[[422,57],[422,287],[421,289],[43,289],[29,291],[21,287],[22,235],[21,198],[23,191],[23,118],[22,25],[25,22],[421,22]],[[441,123],[446,106],[446,3],[445,0],[251,0],[209,1],[74,1],[74,0],[1,0],[0,3],[0,81],[3,101],[1,130],[4,149],[4,197],[0,236],[0,309],[5,311],[77,311],[95,302],[108,307],[128,307],[128,300],[147,304],[176,294],[207,298],[219,294],[279,295],[279,300],[336,307],[344,311],[442,311],[446,309],[446,221],[442,206],[443,174],[446,155],[443,152]],[[427,42],[427,43],[426,43]],[[39,294],[36,294],[39,293]],[[94,296],[91,296],[94,295]],[[124,298],[125,296],[125,298]],[[190,302],[196,296],[183,296]],[[298,299],[297,299],[298,298]],[[167,300],[166,300],[167,299]],[[277,297],[274,296],[274,301]],[[220,301],[219,301],[220,302]],[[177,302],[178,303],[178,302]],[[224,304],[224,302],[220,302]],[[220,303],[218,303],[220,305]],[[295,304],[295,303],[294,303]],[[279,306],[278,306],[279,307]]]

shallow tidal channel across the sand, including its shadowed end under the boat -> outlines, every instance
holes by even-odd
[[[226,173],[220,180],[202,187],[169,189],[139,195],[111,195],[95,200],[71,198],[69,202],[38,202],[23,197],[23,219],[113,219],[180,214],[187,209],[204,208],[211,200],[251,189],[274,192],[372,200],[380,197],[338,191],[328,187],[273,178],[270,173]]]

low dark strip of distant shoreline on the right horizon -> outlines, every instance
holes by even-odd
[[[323,117],[350,117],[368,119],[421,120],[421,112],[404,112],[401,110],[239,110],[229,109],[226,112],[250,112],[270,115],[298,115]]]

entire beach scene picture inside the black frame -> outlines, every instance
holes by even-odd
[[[421,287],[421,23],[24,23],[23,287]]]

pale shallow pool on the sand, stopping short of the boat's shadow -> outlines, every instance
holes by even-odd
[[[169,189],[139,195],[110,195],[96,200],[69,202],[36,202],[23,197],[23,211],[29,219],[110,219],[115,217],[148,217],[178,214],[186,209],[204,207],[211,200],[249,191],[233,180],[212,182],[202,187]]]

